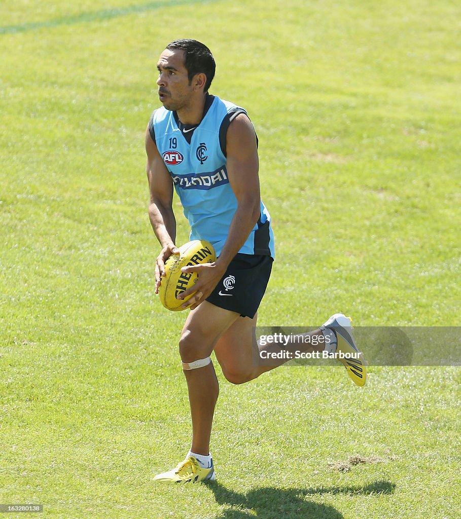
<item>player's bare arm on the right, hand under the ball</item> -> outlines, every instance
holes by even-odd
[[[178,298],[196,294],[183,307],[197,307],[211,294],[223,277],[229,263],[242,248],[260,217],[259,160],[253,125],[245,114],[238,115],[227,130],[227,175],[237,198],[237,210],[229,226],[229,233],[217,260],[212,264],[183,267],[183,272],[197,271],[199,278],[194,288]],[[192,304],[191,304],[192,303]]]

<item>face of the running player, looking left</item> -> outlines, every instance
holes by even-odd
[[[180,110],[191,99],[193,87],[184,66],[184,53],[180,49],[164,50],[157,63],[158,98],[167,110]]]

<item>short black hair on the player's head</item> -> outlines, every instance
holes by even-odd
[[[169,43],[166,48],[168,50],[180,49],[184,52],[184,66],[187,70],[189,82],[192,81],[195,74],[204,73],[207,76],[204,91],[208,92],[216,70],[216,63],[210,49],[197,42],[196,39],[176,39]]]

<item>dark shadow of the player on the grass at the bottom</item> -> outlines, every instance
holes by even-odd
[[[304,498],[319,494],[392,494],[396,487],[389,481],[376,481],[364,487],[255,488],[245,495],[228,490],[218,482],[207,482],[207,486],[219,504],[232,507],[219,515],[222,519],[343,519],[335,508]]]

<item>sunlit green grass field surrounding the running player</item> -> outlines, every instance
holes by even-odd
[[[461,516],[458,366],[371,367],[363,390],[341,366],[219,374],[218,482],[153,483],[191,431],[143,148],[160,52],[204,41],[212,93],[260,139],[277,240],[260,324],[341,310],[456,326],[460,16],[452,0],[3,0],[0,503],[50,519]]]

